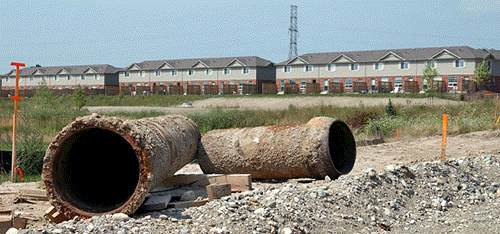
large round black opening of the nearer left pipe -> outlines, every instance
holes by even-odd
[[[90,128],[66,139],[56,155],[54,187],[80,210],[105,213],[123,205],[139,181],[130,144],[109,130]]]

